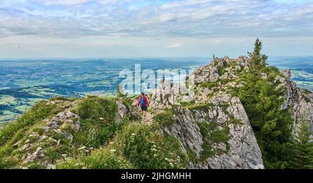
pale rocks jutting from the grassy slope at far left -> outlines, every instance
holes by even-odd
[[[71,131],[78,132],[80,128],[80,118],[70,111],[63,111],[50,119],[45,119],[45,126],[38,126],[31,129],[27,138],[17,141],[13,147],[17,147],[15,153],[24,154],[21,157],[22,167],[27,167],[33,162],[40,163],[40,166],[51,168],[53,165],[46,159],[47,149],[62,148],[60,140],[55,138],[58,135],[65,136],[69,142],[72,142]]]

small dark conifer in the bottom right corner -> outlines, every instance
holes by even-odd
[[[290,161],[291,168],[313,169],[313,141],[310,138],[310,132],[307,122],[302,122],[297,140],[294,144],[294,159]]]

